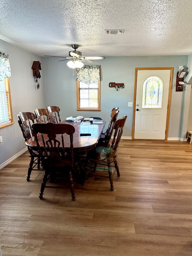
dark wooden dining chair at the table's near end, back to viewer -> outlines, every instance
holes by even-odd
[[[35,123],[32,125],[32,131],[37,143],[38,152],[41,158],[42,168],[45,170],[44,178],[41,184],[39,198],[44,194],[46,182],[52,181],[58,172],[68,175],[72,200],[75,200],[74,175],[77,171],[80,175],[80,158],[73,152],[73,133],[75,128],[71,124]],[[57,140],[60,136],[61,143]],[[66,149],[64,141],[70,140],[70,149]],[[41,145],[40,145],[41,143]]]

